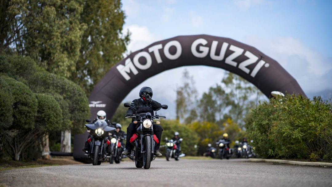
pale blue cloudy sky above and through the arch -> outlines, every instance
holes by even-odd
[[[332,1],[329,0],[123,0],[124,31],[131,33],[129,52],[182,35],[207,34],[253,46],[275,59],[308,95],[332,92]],[[141,87],[169,105],[175,117],[176,88],[184,69],[199,96],[220,83],[225,70],[185,66],[164,71],[133,89],[124,99],[138,98]],[[163,112],[165,114],[165,112]]]

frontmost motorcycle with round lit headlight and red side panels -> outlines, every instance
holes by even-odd
[[[129,103],[124,103],[124,107],[131,107],[136,114],[136,108]],[[167,108],[167,105],[161,105],[161,108],[156,111]],[[159,121],[154,122],[154,119],[166,119],[166,117],[157,115],[157,112],[155,116],[152,116],[150,112],[147,112],[136,114],[134,116],[127,116],[125,118],[133,118],[133,123],[138,126],[136,126],[136,133],[130,137],[130,143],[134,145],[134,148],[131,150],[128,158],[135,161],[135,166],[137,168],[144,167],[144,169],[149,169],[151,161],[155,159],[155,156],[153,155],[155,142],[159,142],[157,136],[153,134],[152,124],[160,124]]]

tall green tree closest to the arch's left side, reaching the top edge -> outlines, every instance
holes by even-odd
[[[80,57],[70,79],[90,93],[94,84],[123,58],[129,32],[122,33],[125,15],[120,0],[85,1],[81,23],[87,25],[82,36]]]

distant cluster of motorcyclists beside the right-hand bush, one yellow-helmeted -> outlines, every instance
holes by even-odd
[[[256,157],[254,152],[254,147],[250,146],[246,138],[242,139],[242,142],[238,140],[235,141],[233,148],[230,148],[230,140],[228,139],[228,134],[224,133],[222,139],[215,142],[216,146],[219,148],[218,151],[216,148],[211,146],[211,143],[207,144],[207,151],[204,153],[205,156],[210,156],[211,158],[250,158]],[[253,140],[251,140],[253,142]]]

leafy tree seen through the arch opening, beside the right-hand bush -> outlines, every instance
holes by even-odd
[[[251,83],[226,72],[220,85],[210,87],[208,93],[203,94],[198,105],[200,118],[220,125],[230,118],[243,128],[245,115],[261,96],[263,94]]]

